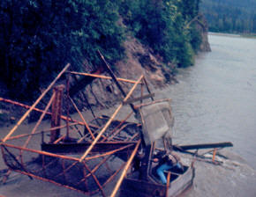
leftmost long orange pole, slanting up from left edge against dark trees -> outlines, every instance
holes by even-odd
[[[34,107],[41,101],[41,98],[43,98],[43,97],[46,95],[46,93],[47,93],[47,92],[52,88],[52,86],[56,83],[57,79],[59,79],[59,77],[61,77],[61,76],[64,74],[65,70],[68,69],[68,68],[70,67],[70,65],[71,65],[71,64],[68,63],[68,64],[64,67],[64,69],[57,75],[57,77],[52,81],[52,83],[49,84],[48,88],[47,88],[45,91],[43,91],[43,92],[41,93],[41,96],[40,96],[39,98],[37,98],[37,100],[34,102],[33,106],[31,106],[31,108],[26,111],[26,113],[20,118],[20,120],[18,121],[18,123],[11,129],[11,131],[9,132],[9,134],[4,137],[4,139],[3,139],[3,141],[2,141],[1,143],[5,142],[5,141],[14,133],[14,131],[15,131],[15,130],[19,127],[19,125],[26,119],[26,117],[29,115],[29,113],[31,113],[31,111],[34,109]],[[0,144],[1,144],[1,143],[0,143]]]

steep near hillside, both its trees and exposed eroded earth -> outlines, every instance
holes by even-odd
[[[74,70],[103,73],[98,50],[118,77],[144,74],[154,88],[176,83],[177,68],[192,66],[194,55],[210,50],[199,2],[1,1],[0,97],[31,105],[67,62]],[[120,96],[101,80],[78,88],[92,106],[112,105]],[[11,106],[0,106],[0,119],[11,119],[3,115]]]

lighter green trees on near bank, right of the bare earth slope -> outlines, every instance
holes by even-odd
[[[177,62],[179,67],[192,65],[192,48],[197,50],[200,41],[194,29],[191,36],[184,32],[184,26],[198,15],[199,0],[124,0],[121,8],[124,23],[164,62]]]

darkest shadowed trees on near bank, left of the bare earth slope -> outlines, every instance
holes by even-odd
[[[97,49],[110,62],[124,55],[117,5],[107,0],[2,0],[0,18],[0,75],[12,97],[34,97],[66,62],[99,64]]]

